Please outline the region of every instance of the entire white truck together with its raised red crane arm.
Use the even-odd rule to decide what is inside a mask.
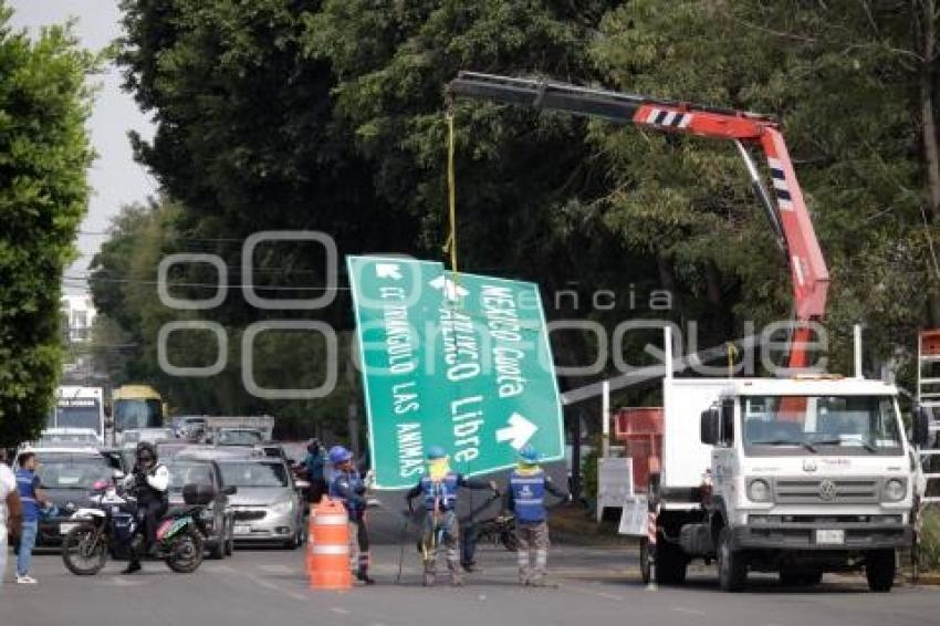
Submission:
[[[460,72],[448,96],[734,144],[793,284],[787,377],[673,378],[667,368],[661,445],[646,459],[652,471],[644,486],[649,520],[640,550],[644,580],[680,584],[689,563],[704,559],[717,562],[719,584],[729,592],[744,588],[750,571],[808,585],[824,572],[858,568],[871,591],[890,591],[897,551],[911,545],[913,449],[926,440],[928,415],[915,411],[909,440],[895,386],[858,374],[794,375],[807,371],[806,346],[825,313],[829,275],[779,123],[760,114],[474,72]],[[769,176],[754,161],[755,149]]]

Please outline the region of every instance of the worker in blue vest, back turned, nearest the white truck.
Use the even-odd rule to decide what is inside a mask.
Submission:
[[[519,584],[544,586],[549,564],[549,515],[545,492],[568,500],[570,495],[552,482],[539,467],[540,455],[532,446],[519,453],[519,465],[509,477],[506,509],[515,513],[515,535],[519,542]],[[535,565],[532,566],[532,556]]]

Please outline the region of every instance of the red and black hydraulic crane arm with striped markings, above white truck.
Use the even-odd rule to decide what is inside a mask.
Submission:
[[[606,90],[593,90],[544,80],[513,79],[460,72],[448,85],[450,97],[503,102],[600,117],[619,124],[734,142],[744,159],[751,185],[766,213],[771,229],[787,258],[796,321],[822,321],[829,274],[803,192],[777,123],[767,116],[685,102],[655,100]],[[763,150],[773,181],[774,200],[746,146]],[[798,326],[793,335],[790,367],[808,365],[805,342],[812,332]]]

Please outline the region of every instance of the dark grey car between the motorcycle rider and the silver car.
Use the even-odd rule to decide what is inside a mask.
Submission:
[[[187,484],[206,484],[215,497],[200,513],[206,528],[206,553],[211,559],[230,556],[234,546],[234,511],[230,497],[238,489],[224,484],[222,472],[215,461],[170,459],[165,461],[169,471],[169,504],[182,507],[182,488]]]

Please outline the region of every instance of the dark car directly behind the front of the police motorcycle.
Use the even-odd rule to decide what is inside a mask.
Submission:
[[[69,518],[79,508],[90,504],[88,494],[95,482],[112,480],[115,470],[124,471],[119,455],[96,448],[23,448],[20,455],[24,451],[35,453],[36,473],[59,510],[58,515],[40,521],[38,546],[60,545],[65,533],[75,525]],[[19,465],[19,457],[14,462]]]

